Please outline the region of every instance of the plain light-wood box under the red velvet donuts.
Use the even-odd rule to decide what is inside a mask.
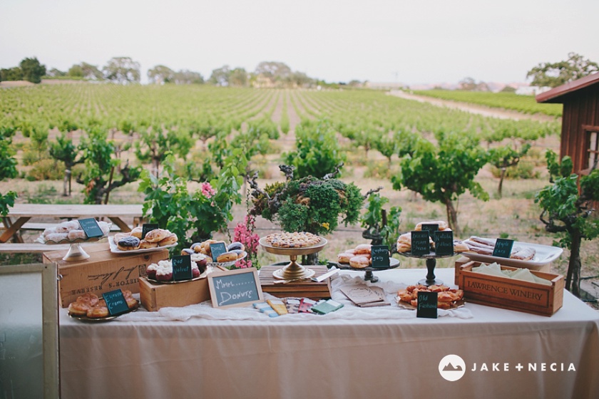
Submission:
[[[169,306],[200,304],[210,299],[208,279],[182,281],[177,284],[158,284],[139,279],[139,298],[148,311],[158,311]]]

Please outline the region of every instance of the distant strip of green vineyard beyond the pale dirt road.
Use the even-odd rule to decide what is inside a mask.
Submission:
[[[516,93],[491,93],[466,90],[414,90],[414,94],[428,97],[441,98],[442,100],[460,101],[485,105],[492,108],[516,110],[528,114],[544,114],[560,117],[562,106],[560,104],[537,103],[532,95],[518,95]]]

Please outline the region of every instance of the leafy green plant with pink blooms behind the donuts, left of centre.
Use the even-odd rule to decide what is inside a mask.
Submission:
[[[179,245],[173,253],[193,241],[211,237],[213,232],[227,232],[232,206],[241,202],[240,171],[245,169],[245,162],[240,150],[235,150],[225,160],[220,175],[195,192],[188,190],[187,180],[175,175],[172,155],[165,159],[163,177],[143,172],[138,189],[145,194],[143,213],[150,222],[178,235]]]

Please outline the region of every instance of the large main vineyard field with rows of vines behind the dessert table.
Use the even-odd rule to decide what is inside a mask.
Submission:
[[[492,106],[558,115],[535,110],[533,98],[526,96],[497,98]],[[502,197],[496,194],[499,169],[488,163],[476,175],[476,184],[490,199],[485,202],[471,193],[452,199],[461,235],[551,244],[554,237],[538,222],[540,210],[533,198],[548,184],[544,153],[558,150],[559,132],[558,120],[487,118],[371,90],[113,84],[11,88],[0,91],[0,133],[10,141],[6,154],[14,156],[18,173],[0,182],[0,193],[14,190],[17,202],[101,203],[109,198],[116,204],[142,203],[152,195],[168,202],[166,182],[163,191],[152,193],[148,188],[158,184],[165,170],[181,179],[168,182],[171,189],[195,190],[223,175],[226,179],[220,183],[235,186],[236,177],[245,175],[243,170],[257,171],[258,182],[265,187],[285,180],[278,168],[281,163],[295,165],[298,173],[306,167],[324,175],[323,168],[344,162],[344,182],[354,182],[363,193],[382,186],[389,207],[403,209],[399,229],[405,232],[423,219],[446,219],[446,205],[399,190],[408,187],[396,182],[399,170],[406,167],[402,159],[413,154],[421,139],[441,146],[455,135],[483,152],[530,147],[520,155],[518,167],[507,173]],[[330,166],[323,166],[325,159]],[[64,196],[66,169],[74,181],[71,195]],[[127,184],[111,192],[108,188],[123,170]],[[121,180],[125,178],[123,174]],[[146,191],[138,191],[140,186]],[[103,187],[108,192],[100,190]],[[230,230],[247,213],[250,188],[244,181],[240,187],[229,193],[236,203]],[[168,214],[163,216],[168,220]],[[258,234],[275,229],[276,224],[257,219]],[[362,242],[362,230],[359,224],[339,224],[327,237],[331,244],[322,253],[324,258],[333,259],[340,250]],[[269,254],[261,256],[262,264],[280,261]],[[583,264],[598,264],[598,257],[596,248],[585,251]],[[402,262],[406,267],[422,266],[412,259]],[[450,261],[439,263],[451,266]],[[563,272],[567,257],[553,266]],[[596,270],[583,268],[583,274],[590,273]]]

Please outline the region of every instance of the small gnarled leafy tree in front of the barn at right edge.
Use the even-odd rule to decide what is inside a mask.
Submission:
[[[595,210],[591,201],[599,201],[599,170],[593,169],[589,175],[580,177],[579,191],[578,175],[571,173],[570,157],[563,157],[559,163],[556,153],[550,150],[546,159],[553,185],[538,192],[535,202],[543,209],[539,218],[546,231],[559,234],[560,241],[556,244],[570,249],[565,289],[580,297],[580,244],[583,239],[599,236],[599,219],[590,218]]]

